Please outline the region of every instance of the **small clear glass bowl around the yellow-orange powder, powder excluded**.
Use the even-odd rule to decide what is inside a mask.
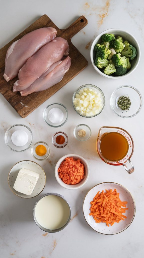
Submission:
[[[43,145],[46,148],[46,154],[43,155],[43,156],[39,156],[35,152],[36,147],[39,146],[39,145]],[[31,148],[31,154],[37,160],[45,160],[45,159],[47,159],[50,156],[50,153],[51,153],[50,147],[49,147],[49,145],[46,142],[36,142],[32,146],[32,148]]]

